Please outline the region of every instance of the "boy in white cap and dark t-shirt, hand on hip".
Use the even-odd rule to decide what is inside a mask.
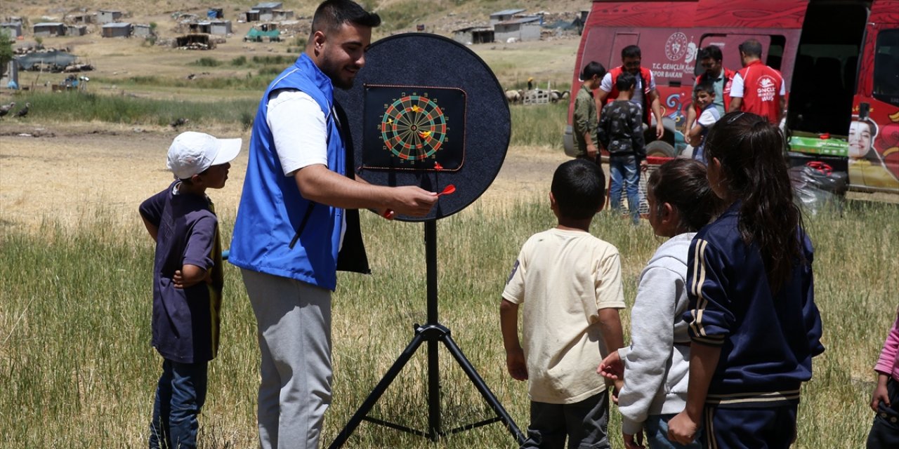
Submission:
[[[174,138],[175,180],[140,205],[156,242],[153,347],[163,357],[149,447],[194,448],[206,400],[207,364],[218,352],[222,258],[218,218],[206,189],[225,187],[241,139],[186,132]]]

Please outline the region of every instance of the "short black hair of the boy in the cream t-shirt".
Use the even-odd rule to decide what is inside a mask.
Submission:
[[[559,216],[573,220],[592,218],[606,199],[606,180],[599,165],[583,159],[559,165],[550,189]]]

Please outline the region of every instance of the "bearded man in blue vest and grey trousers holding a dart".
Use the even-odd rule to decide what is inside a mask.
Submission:
[[[369,272],[356,209],[426,216],[437,195],[354,179],[334,87],[352,87],[377,13],[326,0],[306,51],[256,112],[229,261],[258,324],[263,449],[317,448],[331,402],[331,292],[337,269]],[[345,119],[343,120],[345,125]]]

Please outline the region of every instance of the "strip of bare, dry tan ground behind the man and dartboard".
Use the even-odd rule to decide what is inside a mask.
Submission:
[[[227,129],[204,131],[235,136]],[[0,230],[37,226],[47,218],[76,225],[98,212],[123,224],[139,223],[140,201],[172,179],[165,153],[176,134],[109,124],[0,125]],[[249,134],[242,137],[244,150],[232,164],[225,189],[210,194],[222,216],[233,216],[240,199]],[[511,147],[479,202],[504,207],[518,198],[544,195],[553,170],[565,159],[561,149]]]

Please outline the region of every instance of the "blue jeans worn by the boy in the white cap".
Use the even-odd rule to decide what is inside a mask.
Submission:
[[[163,361],[150,423],[150,449],[197,447],[197,416],[206,401],[207,365]]]

